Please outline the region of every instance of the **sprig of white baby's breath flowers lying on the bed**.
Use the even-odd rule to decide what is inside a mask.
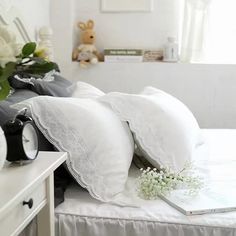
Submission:
[[[187,194],[197,194],[203,187],[202,178],[195,175],[191,163],[174,173],[170,168],[161,167],[141,169],[141,176],[138,178],[137,191],[141,198],[147,200],[157,199],[160,195],[167,195],[177,188],[186,189]]]

